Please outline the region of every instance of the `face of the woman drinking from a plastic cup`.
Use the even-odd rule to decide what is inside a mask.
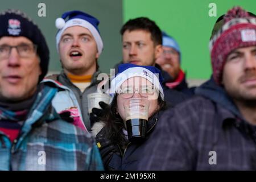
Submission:
[[[152,114],[158,109],[158,97],[147,97],[147,89],[153,88],[153,85],[150,81],[146,80],[146,78],[143,77],[131,77],[125,82],[120,87],[121,92],[118,93],[117,95],[117,111],[123,121],[125,121],[125,102],[127,100],[130,100],[131,98],[141,98],[141,99],[146,99],[149,106],[148,106],[148,118],[151,117]],[[127,93],[122,92],[122,90],[129,90],[130,93],[130,98],[127,98],[124,96],[122,93]],[[151,93],[154,92],[154,96],[158,96],[156,90],[151,90]],[[150,94],[152,96],[152,94]]]

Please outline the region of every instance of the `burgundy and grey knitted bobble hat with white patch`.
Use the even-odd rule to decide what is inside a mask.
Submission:
[[[226,59],[234,49],[256,46],[256,18],[241,7],[234,7],[224,16],[224,25],[209,43],[213,78],[221,84]]]

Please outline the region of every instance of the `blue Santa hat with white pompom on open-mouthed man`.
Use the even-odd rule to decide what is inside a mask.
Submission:
[[[87,28],[92,33],[100,55],[103,49],[103,43],[100,31],[98,30],[99,23],[100,21],[97,18],[82,11],[75,10],[64,13],[61,18],[57,18],[55,22],[55,26],[59,29],[56,35],[57,50],[59,51],[59,43],[63,32],[69,27],[81,26]]]

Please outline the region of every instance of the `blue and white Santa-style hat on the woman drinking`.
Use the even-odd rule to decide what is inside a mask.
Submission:
[[[156,74],[158,74],[158,76],[156,76]],[[118,66],[118,73],[111,81],[111,93],[115,93],[123,82],[135,76],[144,77],[152,84],[154,84],[159,90],[160,97],[162,98],[162,100],[164,100],[164,92],[162,86],[163,76],[161,74],[161,71],[156,67],[141,66],[130,63],[121,64]]]

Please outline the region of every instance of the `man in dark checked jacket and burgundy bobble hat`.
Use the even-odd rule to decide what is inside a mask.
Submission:
[[[163,114],[138,169],[256,169],[256,19],[228,11],[210,52],[213,77]]]

